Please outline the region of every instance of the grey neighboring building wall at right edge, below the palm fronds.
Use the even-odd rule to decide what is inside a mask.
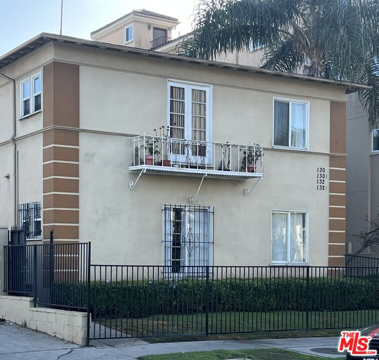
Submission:
[[[366,216],[379,213],[379,129],[369,129],[356,94],[347,96],[346,138],[346,251],[354,253],[360,243],[353,235],[367,229]],[[379,255],[370,248],[362,254]]]

